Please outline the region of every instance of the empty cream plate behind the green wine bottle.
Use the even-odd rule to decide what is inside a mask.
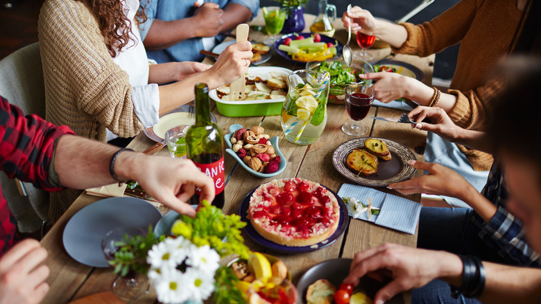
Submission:
[[[212,113],[210,113],[210,118],[212,121],[216,122],[216,117]],[[196,117],[190,117],[189,113],[189,105],[182,105],[179,108],[176,108],[175,110],[172,110],[171,112],[162,115],[160,117],[160,121],[158,123],[151,127],[146,128],[143,130],[146,137],[150,138],[151,140],[155,142],[164,142],[165,139],[165,133],[170,128],[173,128],[174,126],[191,126],[196,122]]]

